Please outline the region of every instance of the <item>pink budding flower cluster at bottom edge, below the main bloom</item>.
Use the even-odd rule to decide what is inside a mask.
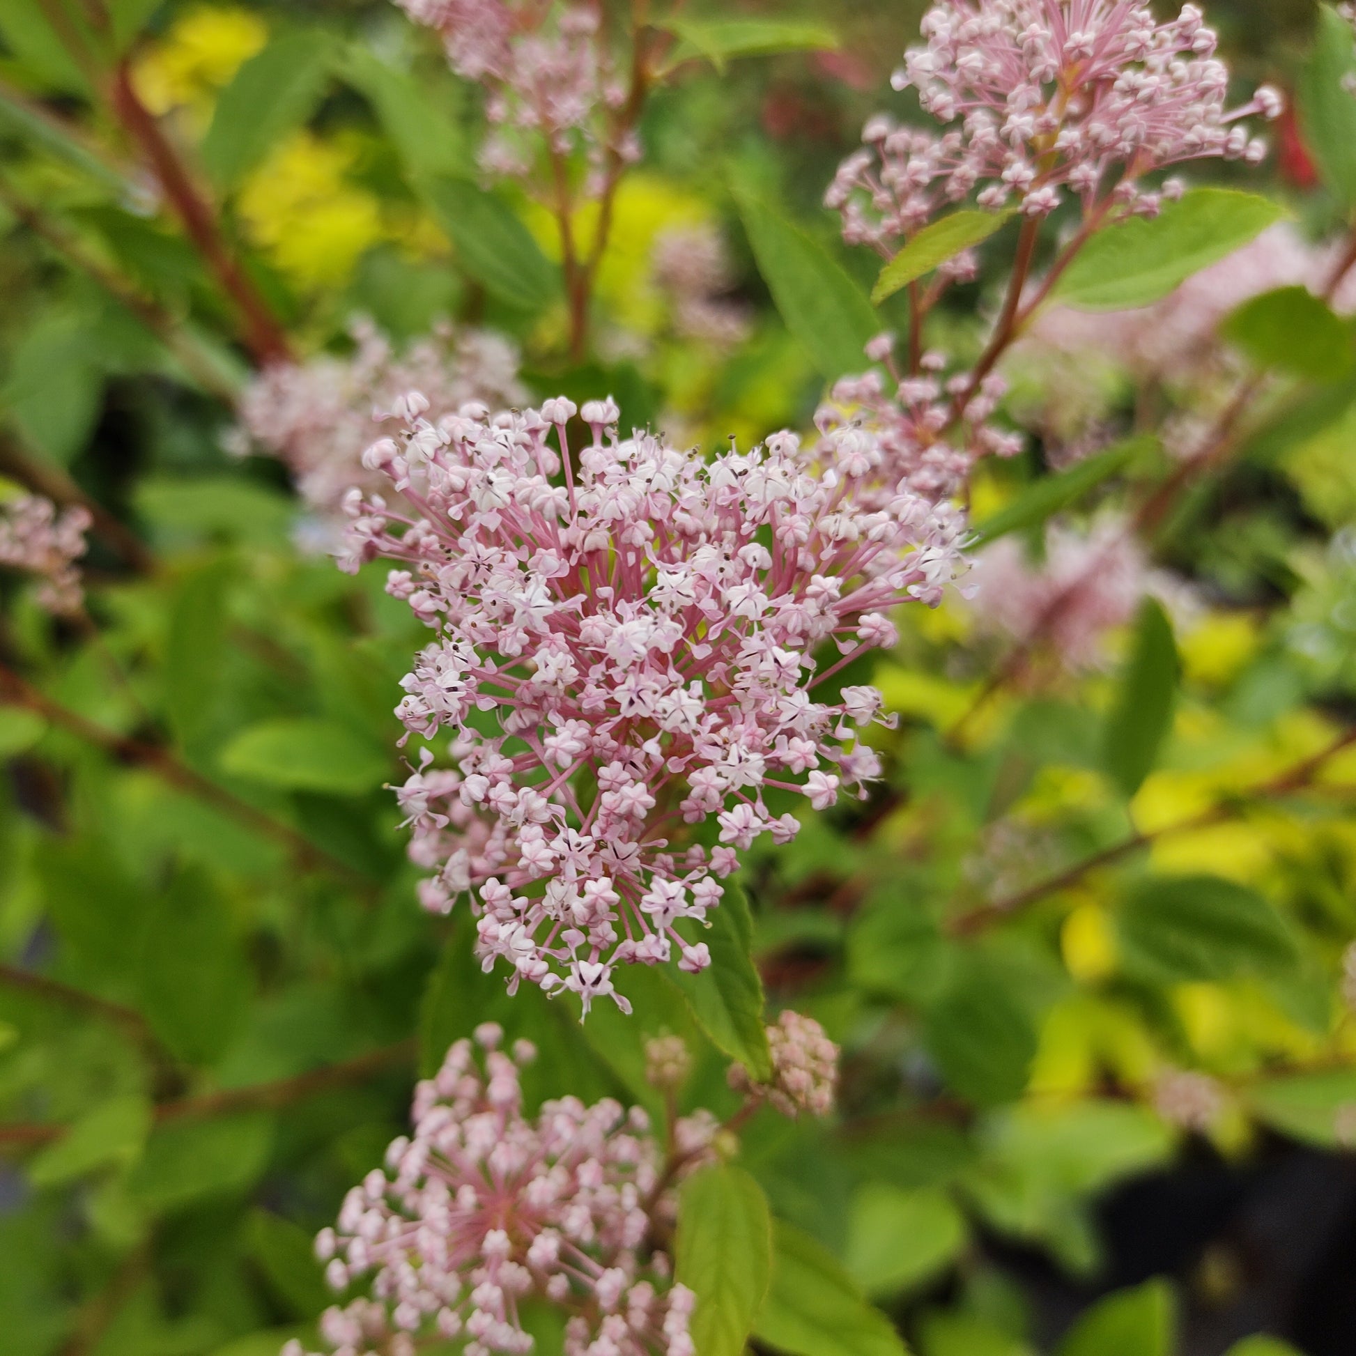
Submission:
[[[525,1353],[518,1306],[537,1298],[572,1315],[565,1356],[694,1356],[694,1296],[650,1252],[674,1201],[645,1113],[563,1097],[529,1120],[518,1064],[536,1051],[518,1041],[510,1058],[502,1039],[487,1022],[483,1056],[469,1040],[447,1051],[415,1089],[414,1136],[391,1144],[389,1172],[369,1173],[317,1237],[330,1284],[370,1276],[373,1296],[327,1310],[321,1336],[336,1356],[414,1356],[438,1338],[465,1356]]]

